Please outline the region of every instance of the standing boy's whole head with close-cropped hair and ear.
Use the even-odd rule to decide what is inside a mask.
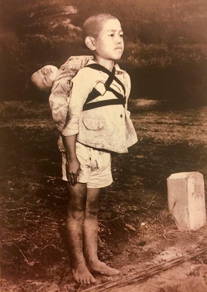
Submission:
[[[92,15],[83,24],[83,37],[95,57],[119,60],[124,51],[123,31],[119,20],[110,14]]]

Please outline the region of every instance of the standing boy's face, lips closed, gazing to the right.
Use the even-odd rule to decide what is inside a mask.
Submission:
[[[102,23],[102,29],[94,39],[95,53],[105,60],[119,60],[124,51],[123,31],[118,19]]]

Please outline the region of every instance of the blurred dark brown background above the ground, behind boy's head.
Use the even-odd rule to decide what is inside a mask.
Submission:
[[[89,54],[80,28],[98,12],[122,23],[132,98],[207,105],[206,0],[1,0],[1,100],[42,100],[32,73]]]

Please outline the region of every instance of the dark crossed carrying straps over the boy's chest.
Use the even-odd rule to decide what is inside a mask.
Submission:
[[[92,69],[103,71],[104,73],[108,74],[108,79],[104,83],[105,90],[112,92],[115,95],[115,97],[117,97],[117,98],[90,102],[90,101],[94,100],[95,98],[102,96],[101,93],[94,87],[93,90],[88,95],[88,97],[83,105],[83,111],[97,108],[97,107],[101,107],[101,106],[112,105],[112,104],[122,104],[123,106],[125,105],[125,103],[126,103],[126,97],[125,97],[126,90],[125,90],[123,83],[115,76],[115,66],[113,67],[112,71],[109,71],[104,66],[99,65],[99,64],[90,64],[90,65],[86,65],[85,67],[90,67]],[[124,96],[110,87],[113,80],[115,80],[122,87],[123,92],[124,92]]]

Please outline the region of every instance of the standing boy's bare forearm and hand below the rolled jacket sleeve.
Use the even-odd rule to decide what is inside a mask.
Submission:
[[[80,163],[75,154],[76,135],[63,136],[63,143],[66,148],[66,173],[69,184],[73,187],[77,184],[78,174],[80,172]]]

